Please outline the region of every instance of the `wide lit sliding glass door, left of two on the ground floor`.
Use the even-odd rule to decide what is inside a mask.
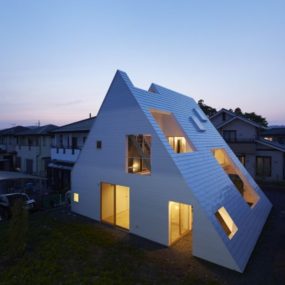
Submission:
[[[101,183],[101,220],[124,229],[130,228],[130,188]]]

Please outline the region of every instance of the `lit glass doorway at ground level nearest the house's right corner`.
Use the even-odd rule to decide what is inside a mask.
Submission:
[[[192,229],[192,206],[170,201],[169,244],[173,244]]]

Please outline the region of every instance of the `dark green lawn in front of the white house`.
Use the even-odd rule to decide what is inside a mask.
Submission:
[[[177,272],[159,251],[153,258],[126,233],[62,209],[30,215],[26,250],[17,258],[9,257],[8,228],[0,224],[0,284],[218,284]]]

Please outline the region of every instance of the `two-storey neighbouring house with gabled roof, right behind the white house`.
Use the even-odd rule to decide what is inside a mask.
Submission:
[[[265,140],[268,129],[226,109],[210,120],[253,177],[285,180],[285,146]]]

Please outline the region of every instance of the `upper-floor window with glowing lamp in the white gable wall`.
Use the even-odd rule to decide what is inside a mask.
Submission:
[[[127,136],[128,173],[150,174],[151,173],[151,136],[129,135]]]

